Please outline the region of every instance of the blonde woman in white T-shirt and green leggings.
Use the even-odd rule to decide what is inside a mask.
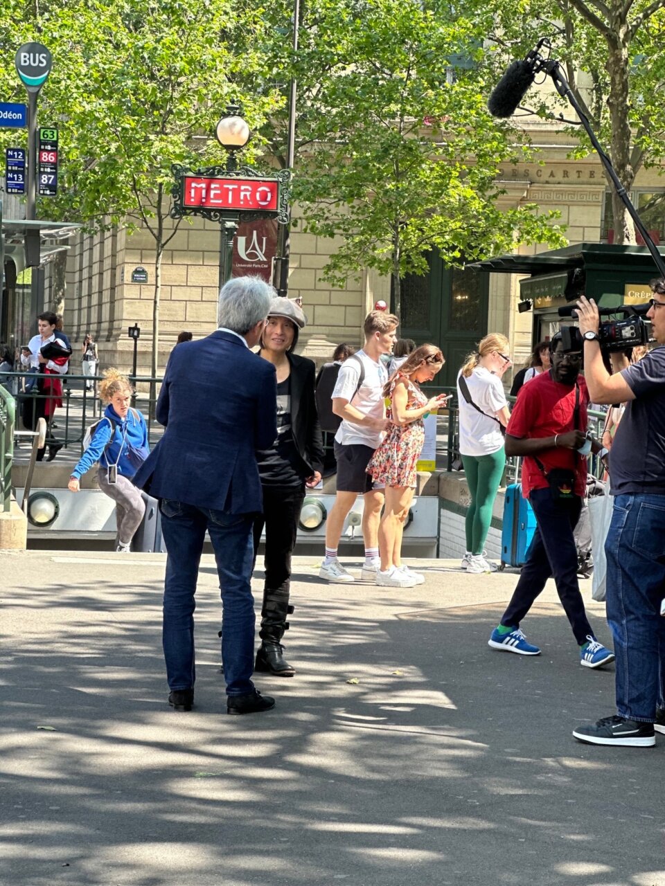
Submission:
[[[487,335],[478,350],[469,354],[458,375],[459,454],[471,496],[462,559],[467,572],[497,569],[485,559],[483,548],[505,467],[502,426],[508,424],[510,412],[501,377],[511,365],[507,351],[505,336]]]

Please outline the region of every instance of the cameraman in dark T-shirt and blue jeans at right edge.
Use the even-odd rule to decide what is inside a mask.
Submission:
[[[665,279],[653,280],[651,288],[646,316],[665,345]],[[665,595],[665,347],[610,376],[600,352],[598,307],[584,297],[577,305],[591,399],[627,405],[609,455],[614,509],[605,546],[618,714],[573,734],[590,744],[651,747],[654,721],[665,732],[665,618],[659,615]]]

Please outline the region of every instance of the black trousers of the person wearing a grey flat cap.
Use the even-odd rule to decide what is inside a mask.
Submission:
[[[259,632],[262,640],[280,640],[286,630],[291,590],[291,555],[295,548],[304,497],[304,484],[297,489],[263,486],[263,513],[254,519],[254,564],[265,525],[265,581]]]

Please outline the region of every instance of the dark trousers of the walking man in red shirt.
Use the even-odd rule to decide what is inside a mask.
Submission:
[[[582,499],[575,495],[571,501],[555,501],[548,488],[534,489],[529,501],[536,514],[536,532],[501,624],[519,627],[520,621],[543,591],[547,579],[554,576],[557,594],[573,628],[575,640],[583,646],[587,636],[594,636],[594,633],[580,594],[577,548],[573,537],[582,510]]]

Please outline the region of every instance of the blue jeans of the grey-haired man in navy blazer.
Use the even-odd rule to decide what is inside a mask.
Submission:
[[[254,599],[252,515],[226,514],[162,499],[161,531],[168,558],[164,581],[162,642],[168,688],[189,689],[194,669],[194,595],[206,530],[215,550],[222,591],[222,664],[226,692],[254,691]]]

